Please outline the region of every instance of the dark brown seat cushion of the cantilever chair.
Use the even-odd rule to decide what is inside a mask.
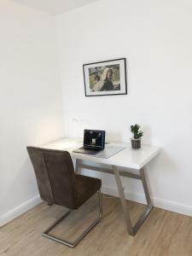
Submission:
[[[77,199],[75,209],[78,209],[92,195],[102,187],[102,181],[96,177],[87,177],[83,175],[75,175],[75,186],[77,191]]]

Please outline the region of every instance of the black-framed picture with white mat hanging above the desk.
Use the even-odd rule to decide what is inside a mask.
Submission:
[[[127,94],[126,59],[84,64],[85,96]]]

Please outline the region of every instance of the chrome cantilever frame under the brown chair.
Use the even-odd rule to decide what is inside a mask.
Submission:
[[[98,196],[98,213],[99,213],[98,218],[96,218],[96,220],[92,224],[90,224],[90,226],[86,230],[84,230],[84,232],[75,241],[69,242],[69,241],[61,240],[58,237],[49,235],[49,231],[53,230],[53,228],[55,228],[55,226],[57,224],[60,224],[61,221],[64,218],[66,218],[70,214],[70,212],[72,212],[72,210],[69,210],[63,216],[61,216],[61,218],[57,219],[54,224],[52,224],[47,230],[44,231],[42,236],[48,237],[49,239],[54,240],[54,241],[58,241],[61,244],[67,245],[68,247],[75,247],[79,243],[79,241],[81,241],[84,238],[84,236],[86,236],[89,233],[89,231],[92,230],[102,218],[102,194],[101,194],[101,190],[97,191],[97,196]]]

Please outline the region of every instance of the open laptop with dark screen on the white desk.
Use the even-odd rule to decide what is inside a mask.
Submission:
[[[105,131],[84,130],[84,146],[74,149],[74,153],[97,154],[105,148]]]

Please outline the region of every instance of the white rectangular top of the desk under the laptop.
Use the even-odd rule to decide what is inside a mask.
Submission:
[[[125,149],[108,159],[102,159],[88,154],[73,153],[73,149],[82,147],[82,145],[83,142],[80,139],[62,138],[58,141],[45,144],[41,146],[41,148],[68,151],[74,159],[89,160],[101,164],[127,167],[137,170],[148,164],[148,162],[160,152],[160,148],[155,146],[143,145],[141,149],[134,150],[129,143],[108,143],[108,146],[123,146]]]

